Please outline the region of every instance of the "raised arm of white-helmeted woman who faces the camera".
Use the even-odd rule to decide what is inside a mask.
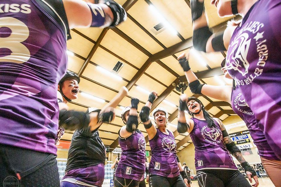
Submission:
[[[148,134],[148,139],[151,140],[157,133],[156,127],[152,124],[149,113],[152,106],[153,101],[157,98],[156,92],[151,92],[148,96],[148,101],[145,106],[140,111],[140,120],[143,122],[144,128]]]

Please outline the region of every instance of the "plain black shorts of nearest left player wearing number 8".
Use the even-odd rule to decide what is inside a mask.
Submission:
[[[0,144],[0,183],[59,187],[56,155]]]

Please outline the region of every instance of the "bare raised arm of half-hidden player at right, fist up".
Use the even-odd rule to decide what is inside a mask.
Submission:
[[[187,81],[189,82],[189,88],[192,93],[203,94],[221,101],[226,101],[230,103],[232,86],[213,86],[208,84],[201,84],[194,74],[194,72],[189,67],[189,53],[183,53],[179,56],[178,60],[181,67],[184,70]]]

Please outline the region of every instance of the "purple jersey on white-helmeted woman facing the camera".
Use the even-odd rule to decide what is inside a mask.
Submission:
[[[157,129],[156,135],[149,140],[151,148],[151,161],[149,163],[149,173],[165,176],[179,176],[179,167],[177,162],[177,143],[172,132],[164,134]]]

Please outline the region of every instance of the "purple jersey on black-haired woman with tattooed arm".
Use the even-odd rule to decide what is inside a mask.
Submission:
[[[222,131],[215,121],[215,127],[208,127],[205,120],[194,121],[190,137],[195,146],[195,168],[200,169],[237,169],[229,151],[223,143]]]

